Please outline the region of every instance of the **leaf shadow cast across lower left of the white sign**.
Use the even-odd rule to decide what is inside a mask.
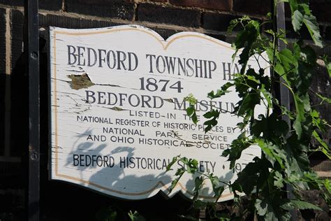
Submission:
[[[68,153],[66,159],[66,168],[73,171],[73,183],[125,199],[152,197],[160,188],[165,189],[165,185],[171,183],[172,177],[165,175],[165,167],[153,174],[149,173],[146,165],[139,165],[137,159],[140,158],[135,157],[135,148],[119,146],[110,149],[107,143],[101,141],[84,141],[89,134],[93,134],[93,129],[76,136],[75,149]],[[67,177],[70,179],[71,176]]]

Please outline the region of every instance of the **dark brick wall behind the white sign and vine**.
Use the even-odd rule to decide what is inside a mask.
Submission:
[[[0,155],[3,155],[6,146],[9,146],[10,155],[13,157],[24,157],[28,134],[27,77],[24,74],[22,59],[23,2],[0,0]],[[46,173],[42,176],[47,180],[47,27],[80,29],[140,24],[154,29],[163,38],[179,31],[198,31],[230,42],[233,36],[226,34],[230,20],[249,15],[263,21],[270,9],[270,3],[266,0],[39,0],[39,8],[43,59],[41,163],[43,172]],[[321,34],[326,40],[325,48],[318,52],[331,55],[331,1],[311,0],[311,8],[318,18]],[[288,8],[286,11],[288,15]],[[286,24],[290,27],[289,20]],[[288,30],[290,31],[290,28]],[[307,33],[302,34],[307,36]],[[316,83],[316,87],[326,87],[328,84],[325,82],[330,78],[324,72],[320,74],[323,75],[321,79],[324,81]],[[327,89],[324,92],[329,96],[331,94]],[[325,116],[330,113],[329,109],[323,110]],[[17,159],[15,158],[14,162],[15,160]],[[0,190],[1,188],[4,187],[0,182]]]

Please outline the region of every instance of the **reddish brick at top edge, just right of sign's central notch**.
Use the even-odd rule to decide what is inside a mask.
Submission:
[[[231,10],[232,0],[169,0],[176,6],[191,6],[215,10]]]

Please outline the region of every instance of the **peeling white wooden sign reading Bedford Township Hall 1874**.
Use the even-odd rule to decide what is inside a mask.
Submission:
[[[245,150],[235,170],[221,152],[239,134],[230,114],[235,92],[210,101],[207,93],[233,79],[240,70],[228,43],[195,32],[164,40],[137,25],[103,29],[50,29],[51,173],[64,180],[124,199],[168,194],[175,170],[165,172],[172,157],[198,159],[199,171],[221,180],[260,155]],[[267,66],[263,59],[260,65]],[[258,63],[251,61],[258,70]],[[183,101],[190,93],[200,101],[195,125]],[[219,124],[204,133],[203,114],[221,108]],[[263,113],[263,108],[256,110]],[[180,166],[180,165],[175,165]],[[180,180],[171,197],[192,197],[193,176]],[[201,194],[214,200],[210,183]],[[226,190],[220,201],[232,199]]]

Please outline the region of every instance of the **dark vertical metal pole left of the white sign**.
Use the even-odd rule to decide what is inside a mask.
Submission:
[[[39,120],[39,30],[38,0],[24,0],[27,75],[29,76],[29,183],[28,219],[39,220],[40,120]]]

